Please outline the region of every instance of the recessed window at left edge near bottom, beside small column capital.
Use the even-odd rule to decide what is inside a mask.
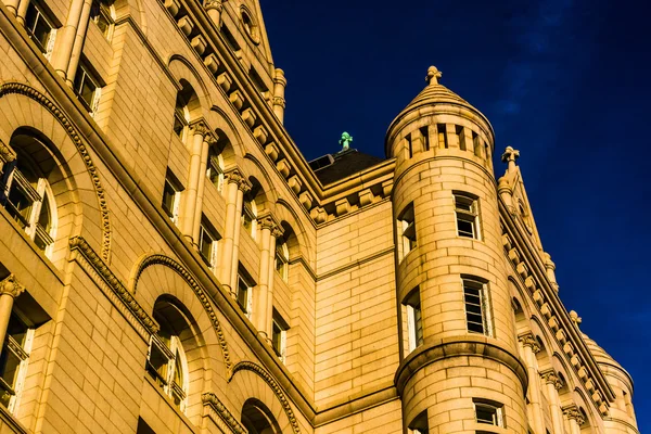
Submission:
[[[18,406],[25,384],[33,340],[34,329],[12,312],[0,356],[0,404],[11,413]]]

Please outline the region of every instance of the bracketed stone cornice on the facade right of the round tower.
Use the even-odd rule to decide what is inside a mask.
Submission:
[[[498,204],[505,230],[505,254],[514,273],[527,289],[551,334],[589,392],[597,410],[601,416],[608,414],[609,400],[613,401],[615,398],[612,388],[549,282],[542,258],[526,242],[501,197],[498,199]]]

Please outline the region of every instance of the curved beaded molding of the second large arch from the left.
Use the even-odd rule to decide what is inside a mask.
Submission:
[[[136,288],[138,286],[140,276],[142,275],[145,268],[151,267],[152,265],[162,265],[167,268],[170,268],[171,270],[176,271],[177,275],[183,278],[183,280],[190,285],[190,288],[201,302],[204,310],[208,315],[208,319],[210,320],[210,323],[213,324],[213,328],[217,333],[217,340],[219,342],[219,346],[221,347],[221,355],[224,356],[224,363],[226,365],[227,369],[230,369],[232,367],[232,362],[230,360],[228,343],[226,342],[226,335],[224,334],[224,330],[221,330],[221,326],[219,324],[217,312],[215,311],[213,305],[208,301],[208,294],[203,290],[203,288],[199,284],[196,279],[194,279],[194,277],[190,273],[190,271],[188,271],[186,267],[177,263],[175,259],[165,255],[154,254],[146,256],[140,261],[140,264],[138,264],[136,268],[136,273],[132,279],[133,283],[131,288],[133,293],[136,293]]]

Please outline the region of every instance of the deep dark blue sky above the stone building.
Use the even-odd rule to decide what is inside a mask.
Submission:
[[[561,297],[635,381],[651,430],[651,35],[641,0],[261,0],[285,125],[306,158],[384,156],[427,66],[480,108],[520,165]],[[498,176],[505,166],[496,162]]]

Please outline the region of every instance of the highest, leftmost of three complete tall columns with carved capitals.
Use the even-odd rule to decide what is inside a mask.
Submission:
[[[183,209],[181,209],[181,219],[179,229],[181,233],[191,244],[196,244],[196,239],[193,238],[194,230],[194,215],[197,213],[196,209],[196,197],[199,194],[199,177],[201,176],[201,155],[203,148],[207,146],[205,143],[205,137],[208,132],[208,128],[203,122],[197,122],[190,126],[190,167],[188,175],[188,188],[186,188],[186,199],[183,201]],[[199,209],[201,213],[201,209]]]

